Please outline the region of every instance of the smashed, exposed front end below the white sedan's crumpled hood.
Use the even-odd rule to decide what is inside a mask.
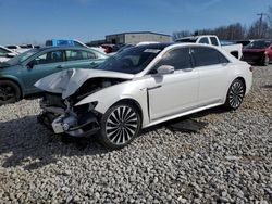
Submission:
[[[101,114],[96,112],[96,102],[73,106],[73,102],[62,100],[59,94],[46,93],[40,101],[42,113],[38,122],[54,133],[67,133],[73,137],[95,135],[99,130]]]

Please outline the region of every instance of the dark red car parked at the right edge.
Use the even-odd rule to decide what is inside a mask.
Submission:
[[[272,40],[255,40],[243,50],[243,60],[251,64],[269,65],[272,61]]]

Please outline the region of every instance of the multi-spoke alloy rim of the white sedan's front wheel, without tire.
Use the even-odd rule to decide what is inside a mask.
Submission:
[[[118,106],[107,118],[106,136],[111,143],[123,145],[134,138],[138,126],[137,113],[131,106]]]

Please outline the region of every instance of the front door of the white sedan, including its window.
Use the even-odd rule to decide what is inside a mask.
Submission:
[[[175,68],[173,74],[152,74],[161,65]],[[147,79],[151,120],[191,110],[198,100],[198,71],[193,68],[189,48],[175,48],[165,53]]]

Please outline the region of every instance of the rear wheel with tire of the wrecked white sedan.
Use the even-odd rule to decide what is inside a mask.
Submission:
[[[227,110],[237,110],[244,101],[246,86],[243,80],[235,79],[226,94],[225,107]]]

